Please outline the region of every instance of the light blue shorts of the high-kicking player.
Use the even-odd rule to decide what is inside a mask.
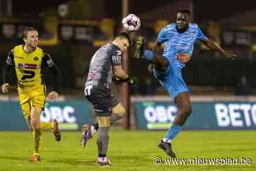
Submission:
[[[188,92],[189,89],[181,75],[181,68],[169,61],[165,72],[153,69],[153,75],[159,83],[170,94],[170,98],[175,100],[176,96],[182,92]]]

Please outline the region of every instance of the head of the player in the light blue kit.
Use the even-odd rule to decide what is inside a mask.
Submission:
[[[189,26],[190,12],[188,9],[181,9],[177,12],[176,24],[178,31],[184,31]]]

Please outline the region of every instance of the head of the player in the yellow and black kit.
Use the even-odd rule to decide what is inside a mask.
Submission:
[[[34,27],[25,27],[23,30],[23,41],[25,45],[30,47],[37,47],[38,44],[38,31]]]

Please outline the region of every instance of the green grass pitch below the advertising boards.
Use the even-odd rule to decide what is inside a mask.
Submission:
[[[96,164],[96,136],[86,149],[80,148],[80,132],[62,132],[61,142],[43,132],[39,163],[29,162],[33,152],[30,132],[0,132],[0,170],[256,170],[255,131],[183,131],[173,141],[178,158],[252,159],[252,164],[159,164],[156,156],[167,159],[157,145],[165,132],[121,131],[112,129],[108,156],[113,167]]]

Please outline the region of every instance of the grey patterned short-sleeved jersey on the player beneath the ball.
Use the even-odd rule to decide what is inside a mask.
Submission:
[[[110,88],[113,66],[121,65],[122,52],[119,47],[108,43],[94,53],[91,58],[89,73],[85,86],[106,86]]]

